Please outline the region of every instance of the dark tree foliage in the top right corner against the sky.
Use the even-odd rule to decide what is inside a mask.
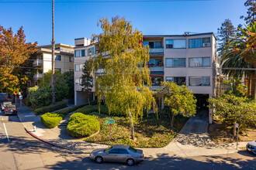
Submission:
[[[240,16],[240,19],[244,19],[246,23],[256,22],[256,0],[247,0],[244,2],[244,6],[247,8],[247,16]]]

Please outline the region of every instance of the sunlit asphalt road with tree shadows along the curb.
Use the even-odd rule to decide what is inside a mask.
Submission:
[[[242,151],[230,155],[146,159],[129,167],[96,164],[88,155],[75,155],[37,141],[26,133],[17,116],[0,116],[0,169],[256,169],[256,157]]]

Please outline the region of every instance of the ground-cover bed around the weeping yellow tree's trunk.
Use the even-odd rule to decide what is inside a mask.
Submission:
[[[92,115],[98,118],[101,124],[101,130],[99,134],[85,138],[85,141],[109,144],[109,124],[106,124],[106,121],[108,121],[108,117],[111,117],[116,123],[112,124],[110,145],[122,144],[137,148],[161,148],[168,145],[188,120],[187,117],[177,115],[175,117],[175,127],[170,130],[170,120],[156,120],[155,116],[145,117],[142,121],[134,124],[136,140],[133,141],[130,139],[130,123],[126,117],[112,117],[97,113],[92,113]]]

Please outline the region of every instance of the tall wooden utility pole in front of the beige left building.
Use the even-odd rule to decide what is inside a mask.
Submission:
[[[52,104],[55,104],[55,75],[54,75],[54,72],[55,72],[55,66],[54,66],[54,61],[55,61],[55,57],[54,57],[54,50],[55,50],[55,41],[54,41],[54,0],[53,0],[53,5],[52,5],[52,20],[53,20],[53,39],[52,39],[52,49],[51,49],[51,66],[52,66],[52,69],[51,69],[51,89],[52,89],[52,96],[53,96],[53,99],[52,99]]]

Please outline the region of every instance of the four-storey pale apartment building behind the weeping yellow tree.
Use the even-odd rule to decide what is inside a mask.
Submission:
[[[86,102],[81,92],[82,64],[89,57],[89,49],[99,49],[89,39],[75,39],[74,79],[75,104]],[[216,76],[220,75],[220,59],[216,55],[216,37],[213,32],[183,35],[144,36],[144,46],[150,47],[148,63],[152,90],[160,88],[161,81],[174,81],[189,87],[198,100],[198,107],[206,107],[207,99],[216,95]],[[92,99],[95,98],[92,89]],[[213,110],[209,110],[209,123]]]

